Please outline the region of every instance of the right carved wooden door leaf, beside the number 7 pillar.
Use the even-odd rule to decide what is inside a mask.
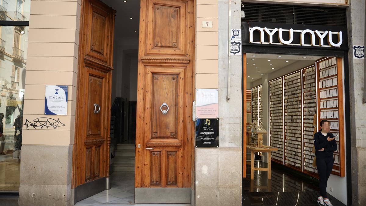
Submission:
[[[141,0],[135,203],[190,196],[194,31],[194,0]]]

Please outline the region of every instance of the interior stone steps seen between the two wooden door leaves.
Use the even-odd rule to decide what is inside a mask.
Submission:
[[[115,172],[135,171],[135,145],[117,144],[115,157],[113,158]]]

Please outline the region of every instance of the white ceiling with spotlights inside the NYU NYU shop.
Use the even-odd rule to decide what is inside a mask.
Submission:
[[[281,57],[279,57],[281,56]],[[306,57],[306,59],[305,59]],[[297,61],[309,62],[309,65],[320,56],[278,55],[278,54],[250,54],[247,53],[247,82],[262,78],[262,74],[269,74]],[[252,60],[254,59],[254,60]],[[270,60],[270,61],[269,61]],[[286,62],[288,61],[288,62]],[[255,65],[253,65],[255,64]],[[258,67],[258,68],[256,68]],[[274,68],[274,69],[272,69]],[[301,68],[295,68],[301,69]],[[248,77],[249,76],[249,77]]]

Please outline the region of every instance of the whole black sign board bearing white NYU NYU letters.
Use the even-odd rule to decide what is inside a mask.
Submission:
[[[348,50],[347,27],[242,22],[242,45]]]

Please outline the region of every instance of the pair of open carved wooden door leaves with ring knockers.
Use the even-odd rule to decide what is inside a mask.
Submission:
[[[194,0],[141,0],[140,8],[135,202],[173,203],[191,188]],[[114,19],[101,1],[82,0],[75,202],[108,189]]]

